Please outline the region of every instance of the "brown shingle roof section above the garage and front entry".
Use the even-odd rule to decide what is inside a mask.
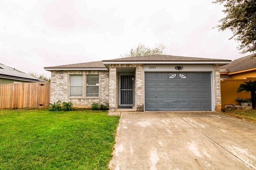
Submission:
[[[156,54],[156,55],[145,55],[145,56],[137,56],[137,57],[126,57],[126,58],[116,58],[111,60],[103,60],[103,62],[104,61],[230,61],[230,60]]]

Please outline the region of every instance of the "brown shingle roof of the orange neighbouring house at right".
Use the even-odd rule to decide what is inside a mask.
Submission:
[[[230,73],[250,68],[256,68],[256,58],[250,59],[252,55],[233,60],[230,64],[221,66],[220,69],[227,69]],[[221,71],[222,72],[222,71]]]

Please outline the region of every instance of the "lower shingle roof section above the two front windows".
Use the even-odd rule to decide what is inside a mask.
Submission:
[[[52,66],[52,67],[45,67],[45,69],[49,68],[106,68],[102,61],[94,61],[94,62],[84,62],[78,64],[68,64],[62,66]]]

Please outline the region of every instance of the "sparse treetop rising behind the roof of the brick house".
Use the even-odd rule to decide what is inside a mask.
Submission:
[[[139,44],[134,48],[130,49],[130,52],[121,55],[121,57],[135,57],[143,55],[154,55],[154,54],[166,54],[166,46],[163,44],[156,44],[154,48],[145,46],[144,44]]]

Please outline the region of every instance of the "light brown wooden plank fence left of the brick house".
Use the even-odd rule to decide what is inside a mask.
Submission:
[[[47,108],[50,82],[0,84],[0,109]]]

